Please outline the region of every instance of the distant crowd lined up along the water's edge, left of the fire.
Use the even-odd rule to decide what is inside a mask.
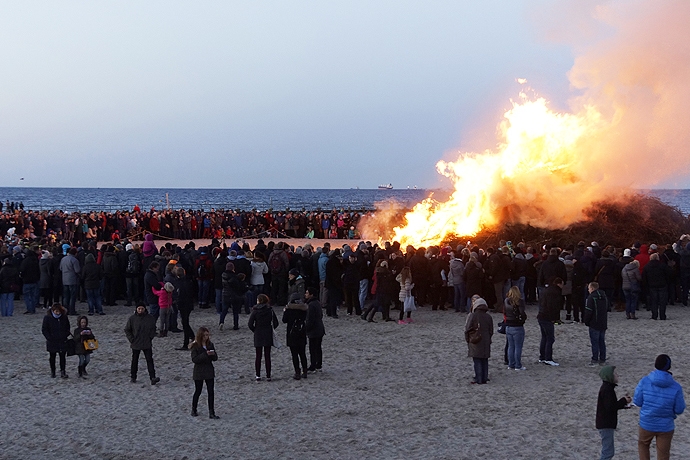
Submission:
[[[359,238],[358,224],[372,211],[156,210],[138,205],[114,212],[25,210],[0,202],[0,237],[48,238],[80,245],[84,241],[141,240],[145,233],[168,239]]]

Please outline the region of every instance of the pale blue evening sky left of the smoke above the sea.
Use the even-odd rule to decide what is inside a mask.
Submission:
[[[552,3],[3,2],[0,186],[444,187],[580,90]]]

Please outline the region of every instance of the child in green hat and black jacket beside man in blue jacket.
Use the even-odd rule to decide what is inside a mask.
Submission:
[[[601,436],[601,457],[600,460],[613,458],[615,452],[613,446],[613,433],[618,426],[618,411],[625,409],[632,399],[625,395],[621,399],[616,399],[616,385],[618,375],[615,372],[616,366],[604,366],[599,371],[602,384],[599,388],[597,399],[596,426]]]

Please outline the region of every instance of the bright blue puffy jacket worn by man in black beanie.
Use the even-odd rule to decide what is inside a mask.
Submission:
[[[640,427],[666,433],[675,429],[675,418],[685,410],[683,388],[666,371],[653,370],[635,388],[633,403],[640,407]]]

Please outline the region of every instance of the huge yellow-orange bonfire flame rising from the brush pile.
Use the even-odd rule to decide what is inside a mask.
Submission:
[[[393,230],[393,238],[419,247],[450,236],[474,236],[499,221],[574,222],[593,192],[588,187],[581,193],[586,165],[580,153],[603,125],[594,107],[577,115],[557,113],[543,98],[530,101],[521,94],[499,127],[502,142],[496,151],[439,161],[436,168],[453,182],[453,194],[442,203],[430,197],[417,204],[405,215],[405,224]]]

